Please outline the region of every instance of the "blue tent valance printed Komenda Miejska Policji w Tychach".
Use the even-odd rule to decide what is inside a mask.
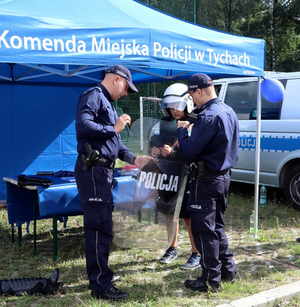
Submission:
[[[0,62],[132,66],[255,76],[263,70],[264,42],[216,32],[187,37],[145,28],[56,29],[28,17],[0,15]],[[27,24],[24,27],[24,24]],[[225,37],[224,37],[225,36]],[[234,39],[233,39],[234,38]]]

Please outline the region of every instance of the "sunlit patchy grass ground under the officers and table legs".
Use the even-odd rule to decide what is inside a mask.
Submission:
[[[244,189],[244,191],[242,191]],[[250,189],[250,190],[249,190]],[[22,246],[10,241],[10,225],[5,209],[0,210],[0,279],[47,277],[59,268],[63,291],[52,296],[1,297],[0,306],[216,306],[234,299],[300,279],[300,212],[283,202],[269,201],[259,212],[259,239],[249,233],[253,208],[251,186],[233,188],[226,211],[226,229],[238,264],[235,283],[223,283],[219,293],[195,293],[183,287],[185,279],[199,271],[183,271],[190,253],[187,233],[181,227],[180,256],[169,265],[157,259],[166,248],[162,225],[136,217],[115,214],[115,239],[110,256],[114,272],[121,275],[118,287],[129,299],[112,304],[92,299],[85,273],[82,216],[69,218],[59,234],[59,259],[52,260],[51,220],[38,221],[38,254],[33,256],[32,234],[25,234]],[[279,306],[279,305],[278,305]],[[300,299],[283,301],[280,306],[300,306]]]

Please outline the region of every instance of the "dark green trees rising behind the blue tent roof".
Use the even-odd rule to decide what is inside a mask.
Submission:
[[[266,40],[266,70],[300,70],[299,0],[143,0],[177,18]]]

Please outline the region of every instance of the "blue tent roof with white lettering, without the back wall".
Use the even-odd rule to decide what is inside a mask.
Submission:
[[[93,82],[116,63],[131,68],[135,81],[194,72],[263,75],[263,40],[190,24],[133,0],[2,0],[0,20],[2,80]]]

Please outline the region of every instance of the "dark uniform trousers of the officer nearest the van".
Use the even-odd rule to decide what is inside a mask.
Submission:
[[[195,244],[201,253],[203,281],[215,286],[222,274],[233,273],[236,265],[228,249],[224,212],[230,185],[229,174],[198,178],[191,187],[189,210]]]

